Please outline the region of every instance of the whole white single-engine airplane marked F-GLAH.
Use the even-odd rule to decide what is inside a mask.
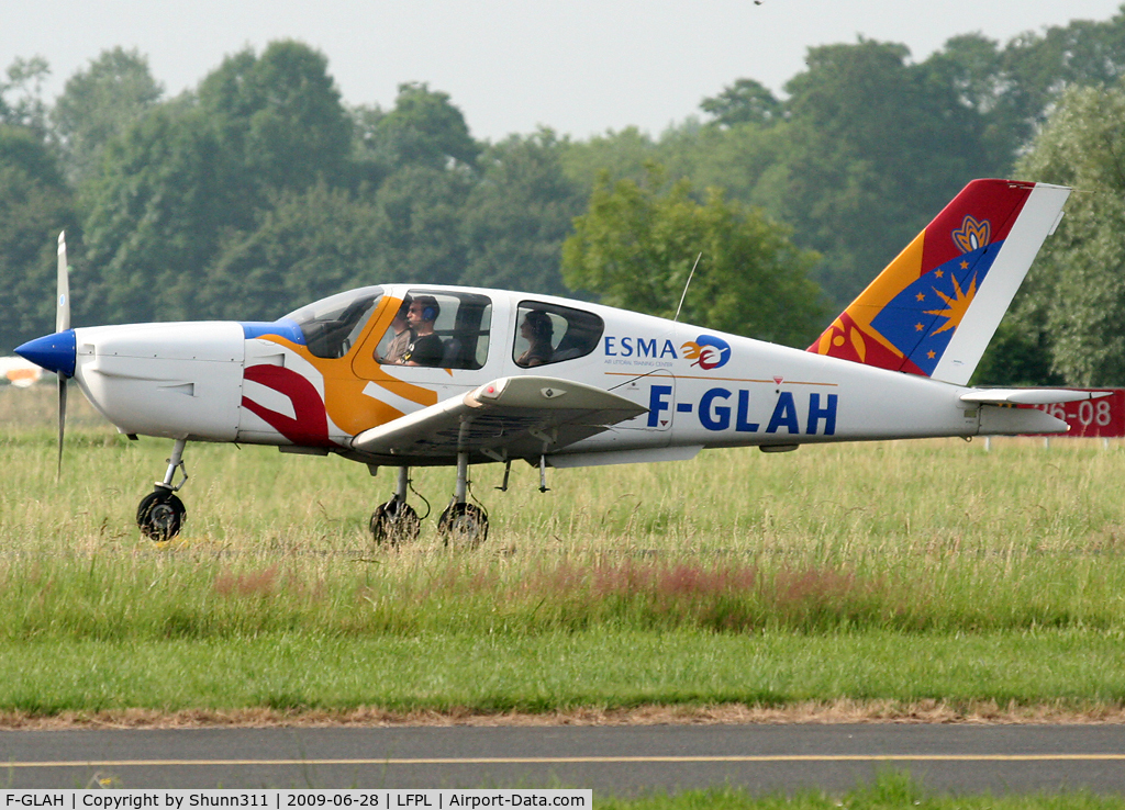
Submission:
[[[273,322],[72,329],[62,235],[56,331],[17,352],[58,375],[60,457],[69,379],[130,438],[174,440],[137,509],[155,540],[184,517],[184,445],[238,442],[397,467],[371,516],[380,541],[418,533],[410,467],[456,464],[439,529],[474,545],[487,516],[467,502],[469,464],[508,465],[506,489],[525,459],[546,490],[548,466],[706,447],[1065,431],[1017,406],[1098,394],[965,385],[1069,193],[971,182],[806,352],[583,301],[423,284],[341,292]]]

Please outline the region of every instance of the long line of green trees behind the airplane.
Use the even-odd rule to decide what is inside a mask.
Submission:
[[[810,48],[783,95],[738,79],[656,136],[488,143],[425,83],[344,104],[299,42],[173,98],[135,51],[53,101],[50,66],[19,58],[0,81],[0,346],[53,322],[64,228],[75,324],[273,319],[389,281],[670,316],[695,266],[684,320],[806,346],[965,182],[1016,175],[1098,193],[1071,202],[981,375],[1123,382],[1123,71],[1125,7],[921,62]]]

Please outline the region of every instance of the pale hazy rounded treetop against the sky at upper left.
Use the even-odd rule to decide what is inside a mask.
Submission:
[[[68,79],[50,118],[71,182],[88,178],[106,142],[152,109],[162,94],[148,58],[135,49],[104,51]]]

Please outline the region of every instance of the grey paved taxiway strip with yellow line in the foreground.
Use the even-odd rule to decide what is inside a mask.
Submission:
[[[574,786],[1125,793],[1125,726],[616,726],[0,731],[8,788]],[[0,765],[0,767],[3,767]]]

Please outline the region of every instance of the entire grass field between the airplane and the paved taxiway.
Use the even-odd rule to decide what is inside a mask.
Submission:
[[[75,392],[76,393],[76,392]],[[170,443],[0,390],[0,711],[1125,707],[1125,452],[1004,439],[474,467],[477,550],[376,547],[394,472],[188,446],[188,521],[133,516]],[[440,511],[450,470],[414,486]],[[420,499],[413,502],[424,512]],[[888,708],[890,707],[890,708]]]

